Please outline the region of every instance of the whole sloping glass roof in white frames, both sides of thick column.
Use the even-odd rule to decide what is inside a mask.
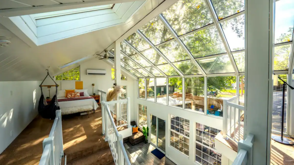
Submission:
[[[122,66],[136,77],[244,74],[244,0],[211,1],[180,0],[153,18],[121,43],[129,56],[121,56]],[[292,0],[276,2],[276,71],[289,67],[293,10]]]

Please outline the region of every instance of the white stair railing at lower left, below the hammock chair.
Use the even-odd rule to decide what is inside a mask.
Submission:
[[[49,137],[43,141],[43,154],[39,165],[60,165],[63,157],[61,110],[56,111]],[[66,158],[65,158],[66,163]]]

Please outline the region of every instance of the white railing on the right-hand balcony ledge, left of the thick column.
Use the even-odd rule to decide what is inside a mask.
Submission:
[[[239,97],[234,96],[229,100],[223,100],[223,136],[229,136],[235,141],[243,139],[241,116],[244,106],[239,105]],[[237,136],[236,136],[237,134]]]

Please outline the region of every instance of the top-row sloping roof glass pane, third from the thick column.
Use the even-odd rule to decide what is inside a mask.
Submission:
[[[139,29],[154,45],[161,44],[173,38],[163,23],[155,17]]]

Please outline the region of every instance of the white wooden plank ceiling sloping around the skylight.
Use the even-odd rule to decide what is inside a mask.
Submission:
[[[56,2],[64,1],[78,2],[77,0],[58,0]],[[42,80],[46,75],[45,70],[48,66],[50,66],[51,75],[62,73],[70,69],[70,67],[60,70],[58,66],[94,54],[95,52],[102,52],[163,1],[164,0],[148,0],[144,6],[136,11],[124,24],[35,47],[28,46],[9,29],[0,24],[0,37],[11,37],[10,40],[12,42],[9,47],[0,47],[0,81]],[[5,8],[24,7],[14,2],[15,1],[3,0],[0,2],[0,6],[4,8],[2,6],[6,4]],[[22,2],[29,3],[35,1],[23,0]],[[44,0],[44,2],[49,4],[50,0]],[[166,6],[164,9],[168,7],[169,6]],[[5,18],[2,17],[1,19]],[[95,57],[96,56],[93,56],[93,58]]]

